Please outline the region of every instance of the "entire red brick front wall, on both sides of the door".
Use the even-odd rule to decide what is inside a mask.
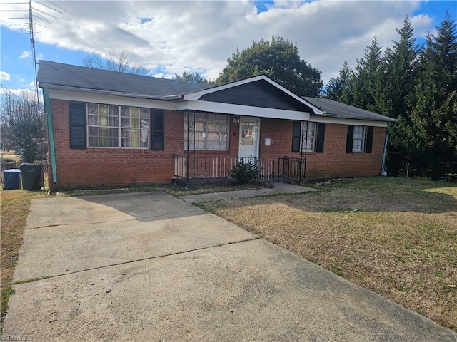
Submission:
[[[57,183],[50,172],[51,190],[66,187],[100,187],[109,185],[169,183],[174,176],[173,155],[186,155],[184,150],[184,113],[165,111],[164,150],[119,148],[69,148],[69,102],[51,100],[56,151]],[[197,151],[199,157],[237,157],[239,126],[230,117],[229,151]],[[260,157],[300,157],[291,152],[291,120],[261,120]],[[346,125],[326,124],[323,153],[308,153],[306,178],[378,175],[381,170],[386,128],[375,128],[373,153],[346,154]],[[271,138],[271,145],[263,145]],[[49,165],[51,170],[51,165]]]

